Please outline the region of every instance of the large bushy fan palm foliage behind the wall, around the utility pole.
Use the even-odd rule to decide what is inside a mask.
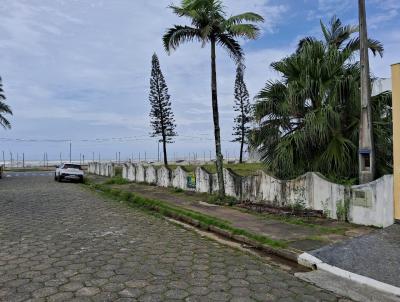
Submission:
[[[256,97],[258,127],[251,144],[279,177],[307,171],[336,179],[358,175],[360,66],[353,58],[357,49],[341,47],[343,36],[349,37],[338,32],[351,27],[338,30],[338,24],[324,30],[325,41],[302,40],[296,53],[272,63],[283,78],[267,82]],[[392,169],[391,94],[373,97],[372,107],[377,173],[382,175]]]

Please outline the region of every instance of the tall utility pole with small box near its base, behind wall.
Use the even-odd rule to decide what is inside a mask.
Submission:
[[[375,152],[371,115],[371,79],[369,74],[368,33],[365,0],[358,0],[360,22],[361,116],[359,133],[359,182],[375,178]]]

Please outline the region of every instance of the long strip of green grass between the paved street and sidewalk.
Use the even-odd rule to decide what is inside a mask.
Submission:
[[[261,244],[265,244],[273,248],[287,247],[287,243],[285,241],[274,240],[263,235],[257,235],[243,229],[238,229],[233,227],[228,221],[201,214],[195,211],[172,206],[167,202],[145,198],[143,196],[140,196],[139,194],[120,189],[112,189],[106,184],[87,183],[86,185],[88,185],[91,189],[95,191],[100,191],[106,197],[112,198],[116,201],[123,201],[130,207],[144,209],[147,212],[156,212],[161,214],[162,216],[172,217],[175,219],[189,218],[197,222],[202,228],[208,229],[210,226],[218,227],[222,230],[228,231],[232,235],[245,236],[249,239],[255,240]]]

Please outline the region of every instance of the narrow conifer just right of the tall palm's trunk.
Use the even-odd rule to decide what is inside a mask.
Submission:
[[[233,106],[234,110],[238,112],[238,115],[234,119],[233,136],[235,139],[233,142],[240,143],[240,163],[243,162],[243,146],[247,143],[247,135],[250,131],[248,124],[251,121],[250,98],[246,83],[244,82],[244,68],[243,65],[239,65],[236,69],[235,105]]]

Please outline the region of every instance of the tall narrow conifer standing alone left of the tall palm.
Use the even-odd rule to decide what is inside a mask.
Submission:
[[[167,83],[161,72],[160,62],[154,53],[152,57],[152,69],[150,79],[151,104],[150,124],[153,128],[152,137],[160,137],[163,143],[164,164],[168,165],[167,143],[172,143],[172,138],[177,136],[175,132],[176,124],[171,108],[170,95],[168,94]]]

